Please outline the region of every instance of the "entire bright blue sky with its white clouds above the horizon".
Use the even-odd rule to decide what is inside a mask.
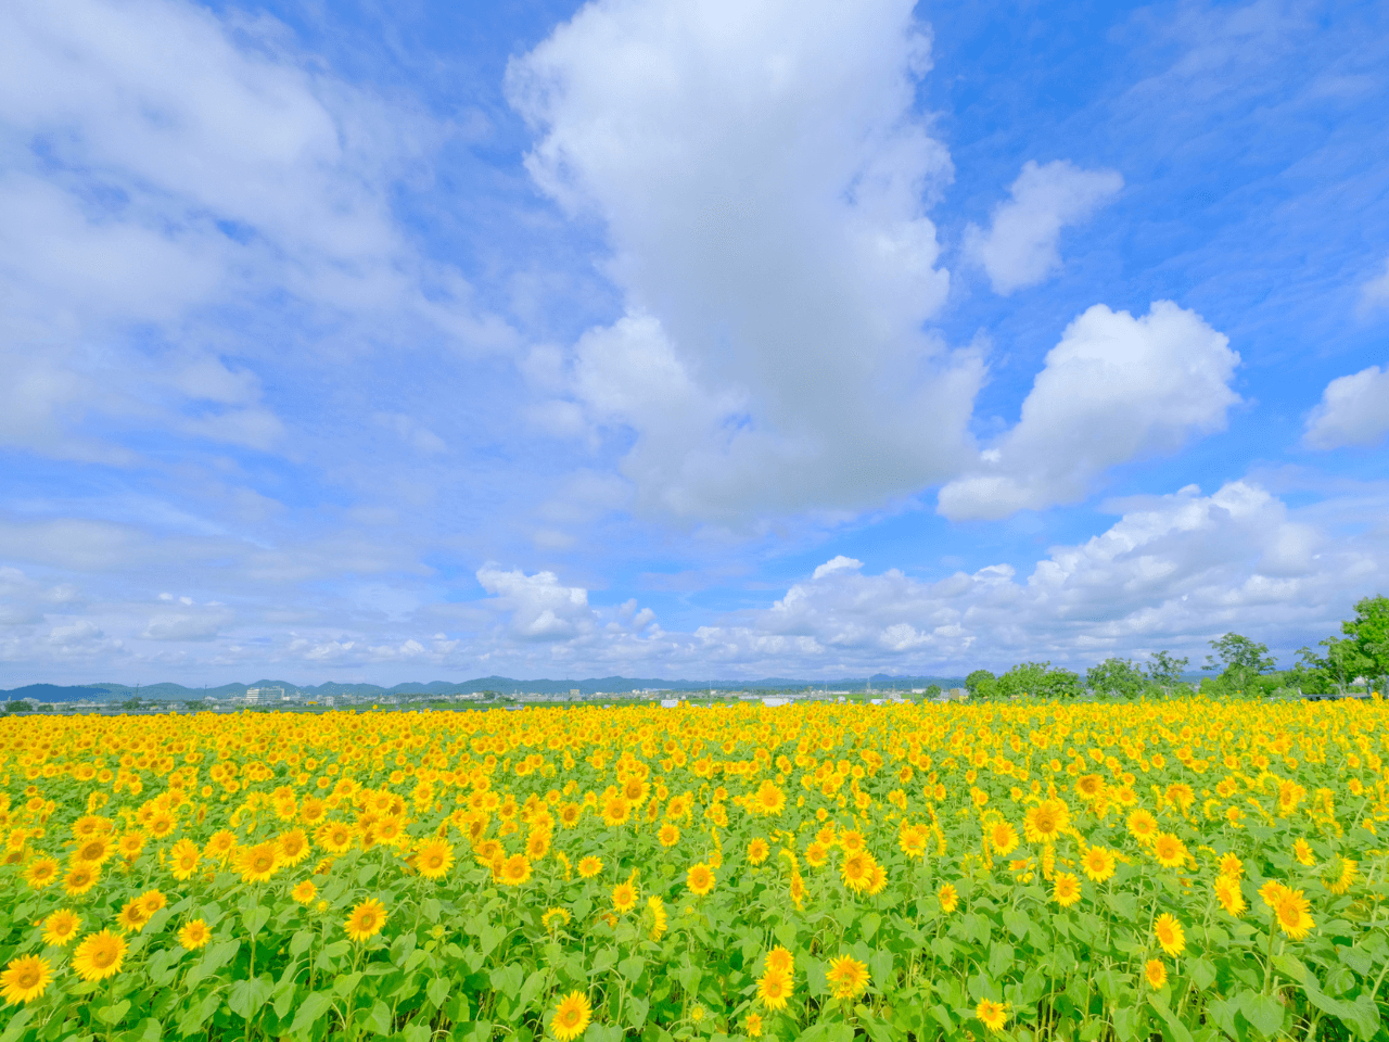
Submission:
[[[19,0],[0,682],[953,675],[1389,592],[1382,4]]]

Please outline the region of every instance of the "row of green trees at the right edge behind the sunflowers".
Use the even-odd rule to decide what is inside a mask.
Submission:
[[[1389,686],[1389,597],[1364,597],[1356,603],[1356,617],[1340,624],[1340,636],[1317,643],[1325,649],[1301,647],[1297,664],[1279,671],[1268,646],[1239,634],[1211,640],[1200,689],[1213,695],[1346,695],[1357,682],[1386,693]],[[1046,699],[1076,697],[1086,692],[1110,697],[1190,693],[1196,688],[1182,679],[1190,663],[1170,652],[1158,652],[1139,665],[1131,659],[1106,659],[1082,677],[1051,663],[1021,663],[1001,675],[975,670],[965,688],[975,697],[1035,695]]]

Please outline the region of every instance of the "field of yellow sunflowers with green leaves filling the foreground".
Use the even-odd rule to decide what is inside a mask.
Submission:
[[[0,720],[0,1042],[1389,1038],[1389,711]]]

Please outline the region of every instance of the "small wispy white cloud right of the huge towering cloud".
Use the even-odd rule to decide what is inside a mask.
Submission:
[[[1118,171],[1028,160],[1008,189],[1013,197],[993,207],[989,231],[965,228],[965,254],[988,272],[995,293],[1035,286],[1061,270],[1061,229],[1088,221],[1122,188]]]

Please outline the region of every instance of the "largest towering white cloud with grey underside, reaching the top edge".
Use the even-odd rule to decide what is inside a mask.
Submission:
[[[914,115],[908,0],[590,3],[507,72],[535,183],[601,218],[625,314],[536,422],[613,431],[649,514],[858,508],[951,474],[982,365],[943,303],[928,206],[949,156]]]

